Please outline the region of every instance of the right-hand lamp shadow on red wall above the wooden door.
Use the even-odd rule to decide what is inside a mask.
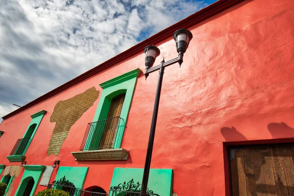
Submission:
[[[293,138],[294,128],[291,128],[286,123],[270,123],[268,125],[272,138]]]

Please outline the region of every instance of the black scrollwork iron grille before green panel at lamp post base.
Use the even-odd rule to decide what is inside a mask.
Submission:
[[[140,196],[141,184],[137,182],[134,183],[134,179],[129,182],[120,183],[117,186],[110,187],[109,196]],[[155,194],[152,190],[147,189],[146,196],[159,196]]]

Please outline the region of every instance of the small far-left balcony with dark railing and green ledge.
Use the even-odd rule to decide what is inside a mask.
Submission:
[[[12,148],[10,155],[7,156],[7,159],[10,162],[24,161],[25,160],[24,151],[29,141],[30,141],[30,138],[18,139],[14,147]]]

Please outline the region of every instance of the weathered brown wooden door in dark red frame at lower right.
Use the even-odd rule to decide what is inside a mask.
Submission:
[[[294,196],[294,144],[230,149],[232,196]]]

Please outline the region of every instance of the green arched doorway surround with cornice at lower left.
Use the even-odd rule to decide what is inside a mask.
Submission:
[[[43,171],[40,168],[45,167],[45,166],[42,166],[42,167],[40,165],[35,165],[34,167],[32,167],[31,165],[28,165],[28,166],[29,166],[29,168],[34,168],[34,169],[33,170],[25,170],[23,177],[21,179],[21,182],[16,190],[15,196],[23,196],[27,182],[31,178],[34,179],[35,183],[34,183],[32,192],[30,193],[29,196],[35,195],[35,191],[39,185],[39,181],[40,181],[42,173],[43,173]],[[37,168],[39,168],[39,169],[36,170]]]

